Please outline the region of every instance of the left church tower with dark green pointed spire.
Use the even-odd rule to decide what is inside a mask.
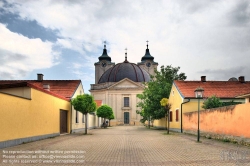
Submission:
[[[99,62],[95,63],[95,84],[98,84],[99,79],[105,71],[115,65],[115,63],[111,62],[111,57],[108,56],[106,42],[104,42],[103,53],[98,59]]]

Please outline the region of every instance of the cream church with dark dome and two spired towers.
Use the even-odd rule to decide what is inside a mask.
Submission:
[[[143,92],[143,83],[150,81],[150,75],[154,75],[158,66],[148,44],[145,55],[137,64],[127,60],[127,52],[124,62],[115,64],[107,53],[106,44],[98,59],[94,64],[95,84],[91,84],[91,95],[113,109],[115,119],[110,121],[112,126],[140,125],[141,116],[136,113],[139,99],[136,95]]]

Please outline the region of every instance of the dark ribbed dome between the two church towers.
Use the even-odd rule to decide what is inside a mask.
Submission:
[[[124,78],[134,82],[149,82],[150,80],[150,76],[145,70],[125,60],[123,63],[118,63],[104,72],[98,83],[119,82]]]

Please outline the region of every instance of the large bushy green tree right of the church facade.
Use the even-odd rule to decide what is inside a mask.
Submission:
[[[138,94],[140,101],[137,107],[144,110],[143,120],[145,119],[161,119],[165,117],[165,110],[160,104],[162,98],[169,98],[171,87],[174,80],[185,80],[185,73],[179,73],[180,67],[161,66],[160,71],[155,70],[155,75],[151,76],[151,80],[145,83],[145,89],[142,94]],[[138,114],[141,111],[137,110]]]

